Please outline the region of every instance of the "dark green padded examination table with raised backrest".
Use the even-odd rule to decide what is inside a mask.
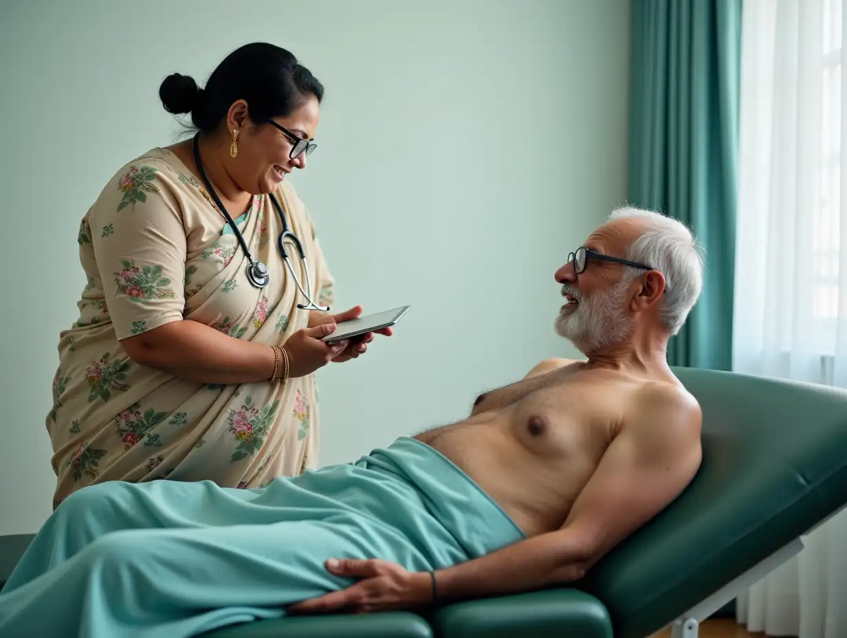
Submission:
[[[698,624],[803,547],[847,504],[847,391],[674,369],[703,408],[703,463],[664,512],[573,587],[434,613],[256,621],[206,638],[645,638]],[[30,541],[0,537],[0,584]],[[163,636],[163,638],[166,638]]]

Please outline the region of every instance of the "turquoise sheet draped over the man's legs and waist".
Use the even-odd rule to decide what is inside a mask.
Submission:
[[[352,581],[327,558],[443,569],[523,539],[447,458],[401,437],[257,490],[110,482],[67,498],[0,593],[0,635],[180,638]]]

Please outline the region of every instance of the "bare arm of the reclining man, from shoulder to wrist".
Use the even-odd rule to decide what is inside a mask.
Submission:
[[[700,408],[667,386],[639,392],[562,529],[435,574],[439,602],[579,580],[606,552],[667,507],[700,467]],[[423,576],[422,586],[429,580]]]

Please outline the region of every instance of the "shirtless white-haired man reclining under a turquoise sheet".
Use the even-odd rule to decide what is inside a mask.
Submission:
[[[699,468],[700,408],[665,352],[701,270],[684,225],[617,210],[556,271],[556,331],[585,360],[546,360],[468,419],[260,489],[80,490],[0,594],[0,635],[191,636],[579,580]]]

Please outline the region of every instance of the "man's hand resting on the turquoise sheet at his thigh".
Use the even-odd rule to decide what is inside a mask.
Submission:
[[[297,602],[289,613],[367,613],[428,607],[432,602],[431,576],[407,571],[384,560],[333,560],[332,574],[360,578],[355,585],[324,596]]]

